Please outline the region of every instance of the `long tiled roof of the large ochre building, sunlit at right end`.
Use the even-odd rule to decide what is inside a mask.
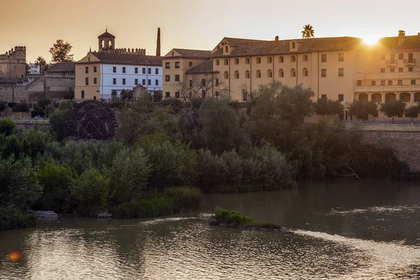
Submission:
[[[290,41],[296,41],[299,49],[290,51]],[[282,55],[292,53],[325,52],[333,50],[352,50],[362,43],[360,38],[332,37],[332,38],[309,38],[292,39],[281,41],[259,41],[254,43],[238,43],[230,55],[223,55],[223,49],[219,49],[211,57],[238,57],[251,55]]]

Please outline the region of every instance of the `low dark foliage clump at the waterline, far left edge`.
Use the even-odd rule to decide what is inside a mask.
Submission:
[[[0,207],[0,230],[14,228],[29,228],[36,225],[34,214],[23,214],[22,211],[11,207]]]

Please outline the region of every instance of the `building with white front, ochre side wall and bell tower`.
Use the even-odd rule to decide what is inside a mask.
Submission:
[[[162,57],[146,55],[144,49],[115,48],[108,32],[98,36],[98,52],[88,52],[76,62],[77,102],[87,99],[110,101],[123,90],[139,85],[148,92],[162,91]]]

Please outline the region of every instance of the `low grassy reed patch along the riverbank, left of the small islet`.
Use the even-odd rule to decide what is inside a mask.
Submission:
[[[153,218],[157,216],[194,211],[202,204],[200,190],[190,187],[168,188],[149,200],[111,207],[113,218]]]

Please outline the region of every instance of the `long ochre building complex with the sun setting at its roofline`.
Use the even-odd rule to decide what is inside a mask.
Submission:
[[[163,57],[163,96],[182,98],[180,83],[195,76],[214,76],[211,90],[247,102],[249,92],[279,80],[291,87],[311,87],[315,98],[343,104],[363,99],[420,102],[420,33],[379,39],[366,45],[360,38],[305,38],[274,41],[223,38],[213,50],[169,51]],[[195,83],[194,83],[195,85]],[[193,86],[194,86],[193,85]]]

